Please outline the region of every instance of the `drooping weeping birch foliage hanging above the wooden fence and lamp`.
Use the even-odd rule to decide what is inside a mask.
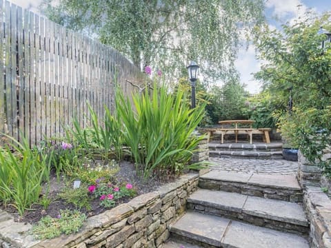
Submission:
[[[174,76],[193,59],[206,78],[225,79],[237,76],[237,49],[263,22],[263,2],[44,0],[41,9],[52,21],[96,35],[139,68]]]

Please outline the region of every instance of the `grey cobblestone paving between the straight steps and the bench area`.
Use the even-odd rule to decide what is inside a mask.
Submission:
[[[298,163],[285,160],[236,159],[210,157],[211,169],[228,172],[295,175]]]

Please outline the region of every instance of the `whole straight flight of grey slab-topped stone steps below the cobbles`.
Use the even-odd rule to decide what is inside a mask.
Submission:
[[[295,176],[210,171],[162,248],[308,248]]]

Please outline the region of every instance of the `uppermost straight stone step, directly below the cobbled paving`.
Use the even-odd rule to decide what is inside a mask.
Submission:
[[[199,178],[199,187],[249,196],[302,202],[302,190],[297,178],[278,174],[243,174],[212,170]]]

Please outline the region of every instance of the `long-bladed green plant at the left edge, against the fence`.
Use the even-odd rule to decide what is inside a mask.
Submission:
[[[26,139],[23,138],[19,143],[14,138],[7,137],[12,141],[10,146],[15,154],[8,146],[4,149],[6,155],[0,153],[1,172],[6,172],[5,175],[1,175],[4,180],[0,184],[0,189],[4,192],[3,196],[10,198],[10,204],[23,215],[26,209],[38,202],[41,183],[43,180],[49,180],[51,160],[47,158],[48,155],[43,156],[37,149],[30,149]],[[6,175],[10,178],[4,178]]]

